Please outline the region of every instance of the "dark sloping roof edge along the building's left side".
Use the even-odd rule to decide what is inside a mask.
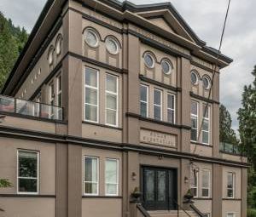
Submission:
[[[40,28],[40,26],[42,25],[42,23],[44,21],[45,15],[49,12],[49,9],[54,2],[55,2],[55,0],[48,0],[44,4],[44,9],[42,10],[41,14],[39,15],[35,26],[32,28],[32,31],[27,39],[27,42],[26,42],[24,48],[22,49],[18,59],[15,62],[15,66],[13,67],[12,71],[9,73],[9,77],[6,80],[6,82],[4,83],[3,89],[1,90],[1,94],[3,94],[5,92],[5,90],[7,89],[11,78],[14,76],[15,71],[17,70],[18,66],[20,65],[20,61],[23,59],[24,55],[26,54],[27,49],[29,48],[30,44],[32,43],[33,38],[36,36],[36,34],[38,32],[38,29]]]

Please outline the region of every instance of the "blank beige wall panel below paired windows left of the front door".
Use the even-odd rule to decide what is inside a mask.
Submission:
[[[122,216],[122,199],[83,199],[82,217],[120,217]]]

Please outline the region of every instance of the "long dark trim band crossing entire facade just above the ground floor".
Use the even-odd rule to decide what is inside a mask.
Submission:
[[[44,132],[20,129],[20,128],[10,128],[5,126],[0,126],[0,137],[9,137],[15,139],[22,140],[38,140],[38,141],[47,141],[51,143],[63,143],[68,145],[76,145],[76,146],[84,146],[84,147],[92,147],[92,148],[102,148],[106,150],[113,151],[137,151],[139,153],[145,155],[155,155],[155,156],[163,156],[163,157],[173,157],[173,158],[184,158],[189,159],[195,162],[203,162],[203,163],[213,163],[227,166],[234,166],[239,168],[248,168],[248,163],[240,163],[228,159],[221,159],[218,157],[207,157],[201,156],[188,152],[180,152],[173,150],[160,149],[156,147],[148,147],[135,145],[135,144],[127,144],[127,143],[114,143],[110,141],[102,141],[102,140],[92,140],[81,137],[75,137],[70,135],[61,135],[61,134],[49,134]]]

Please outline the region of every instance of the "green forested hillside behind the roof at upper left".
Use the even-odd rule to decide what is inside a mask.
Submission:
[[[7,20],[0,12],[0,89],[14,67],[27,37],[24,28],[14,26],[12,20]]]

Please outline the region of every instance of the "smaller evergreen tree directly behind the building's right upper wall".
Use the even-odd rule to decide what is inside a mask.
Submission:
[[[232,126],[232,119],[230,111],[224,105],[219,106],[219,140],[220,142],[230,143],[233,145],[238,144],[236,133]]]

